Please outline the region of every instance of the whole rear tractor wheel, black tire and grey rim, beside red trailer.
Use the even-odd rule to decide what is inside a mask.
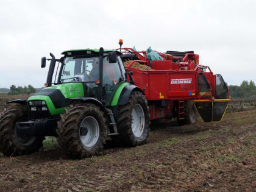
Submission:
[[[119,135],[113,139],[126,146],[146,143],[149,135],[149,110],[143,94],[133,91],[126,105],[119,106],[117,127]]]

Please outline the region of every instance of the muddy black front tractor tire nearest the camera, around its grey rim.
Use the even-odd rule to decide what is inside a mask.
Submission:
[[[91,119],[93,122],[95,122],[95,119],[98,123],[99,135],[96,138],[96,143],[92,146],[82,143],[81,137],[86,137],[89,129],[92,130],[90,126],[86,127],[86,130],[85,127],[80,127],[85,119]],[[60,149],[70,158],[84,158],[99,155],[103,150],[107,138],[107,119],[101,108],[94,104],[80,103],[70,105],[65,110],[65,113],[60,115],[57,135]]]

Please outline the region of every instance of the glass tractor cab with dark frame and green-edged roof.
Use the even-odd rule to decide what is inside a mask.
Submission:
[[[95,98],[104,105],[110,105],[116,88],[126,80],[121,53],[105,50],[101,54],[98,49],[79,49],[62,54],[64,56],[60,60],[51,59],[46,87],[82,84],[84,94],[79,97]],[[59,62],[57,69],[54,69],[55,62]],[[69,88],[69,91],[75,92],[76,89]]]

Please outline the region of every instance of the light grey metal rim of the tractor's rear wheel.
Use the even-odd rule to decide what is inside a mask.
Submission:
[[[145,117],[144,111],[140,104],[132,107],[132,132],[135,137],[141,137],[144,132]]]

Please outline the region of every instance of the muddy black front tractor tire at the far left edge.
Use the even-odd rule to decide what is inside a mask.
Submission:
[[[19,138],[15,133],[16,122],[27,121],[26,105],[16,104],[0,115],[0,152],[7,157],[30,154],[43,146],[44,137]]]

